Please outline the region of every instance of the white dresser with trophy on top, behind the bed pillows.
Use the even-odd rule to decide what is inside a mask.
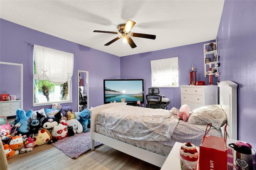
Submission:
[[[190,111],[205,105],[218,105],[217,85],[182,85],[180,86],[181,105],[188,105]]]

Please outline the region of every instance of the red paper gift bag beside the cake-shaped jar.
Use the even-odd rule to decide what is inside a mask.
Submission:
[[[212,127],[210,123],[208,126]],[[199,146],[198,170],[227,170],[228,150],[226,145],[226,125],[224,137],[206,136],[208,126]]]

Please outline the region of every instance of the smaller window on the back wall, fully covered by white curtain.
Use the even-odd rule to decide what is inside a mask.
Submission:
[[[178,87],[178,57],[150,61],[152,87]]]

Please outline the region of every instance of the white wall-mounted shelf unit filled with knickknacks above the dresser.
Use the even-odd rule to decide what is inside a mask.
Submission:
[[[204,77],[210,74],[217,76],[219,58],[216,42],[204,44]],[[211,67],[211,71],[209,71],[209,67]]]

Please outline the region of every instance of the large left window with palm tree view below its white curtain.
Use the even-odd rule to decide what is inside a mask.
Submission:
[[[71,101],[74,54],[34,45],[33,105]]]

